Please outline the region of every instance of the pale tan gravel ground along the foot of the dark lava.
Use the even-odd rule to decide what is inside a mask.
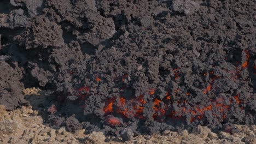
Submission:
[[[22,106],[13,111],[0,105],[0,143],[256,143],[256,125],[235,125],[237,133],[213,133],[198,126],[191,133],[165,130],[161,134],[139,135],[129,141],[119,137],[104,136],[102,132],[85,135],[85,129],[69,133],[65,127],[53,129],[43,123],[32,106]]]

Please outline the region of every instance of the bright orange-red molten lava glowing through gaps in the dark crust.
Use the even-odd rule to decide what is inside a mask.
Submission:
[[[249,55],[247,56],[247,61],[249,59]],[[254,66],[254,69],[256,67]],[[176,77],[179,76],[179,73],[177,72],[179,68],[173,69],[174,74]],[[221,77],[214,74],[214,71],[208,72],[210,74],[210,84],[206,87],[206,89],[203,91],[203,94],[207,94],[209,91],[212,91],[212,85],[216,79],[220,79]],[[208,73],[204,73],[203,75],[206,76]],[[124,75],[122,77],[122,80],[124,81],[125,78],[128,77],[128,75]],[[126,87],[124,87],[126,88]],[[85,88],[82,88],[85,89]],[[148,94],[153,95],[155,94],[156,89],[151,88],[148,89]],[[179,91],[183,91],[180,88],[177,88],[174,90],[174,94],[176,95]],[[190,93],[187,92],[184,95],[190,96]],[[240,94],[234,96],[234,99],[236,100],[237,104],[240,104],[241,101],[239,99]],[[151,103],[153,103],[153,110],[155,113],[153,114],[153,118],[156,121],[164,122],[166,117],[171,117],[173,119],[182,119],[186,115],[190,114],[191,119],[190,122],[195,122],[196,119],[202,119],[205,115],[206,111],[212,111],[212,116],[217,117],[220,119],[225,119],[228,113],[228,110],[230,109],[231,105],[226,105],[224,104],[224,98],[219,97],[214,100],[214,98],[209,98],[209,101],[211,104],[202,106],[202,105],[194,105],[193,108],[188,108],[187,103],[188,100],[178,100],[178,101],[171,101],[171,94],[169,92],[166,92],[166,97],[161,100],[159,98],[154,98]],[[230,98],[230,103],[232,103],[232,99]],[[118,104],[115,104],[118,103]],[[179,105],[179,109],[173,109],[173,103],[177,103]],[[186,104],[186,105],[185,105]],[[113,105],[117,106],[117,109],[113,109]],[[146,105],[146,101],[144,100],[144,95],[141,94],[137,98],[133,99],[126,99],[125,97],[120,97],[119,102],[115,101],[115,99],[110,99],[107,101],[105,107],[104,107],[104,112],[105,114],[108,113],[119,113],[123,115],[126,118],[144,118],[143,117],[143,111],[144,111],[144,106]],[[243,107],[241,107],[243,109]],[[220,113],[221,115],[219,115]],[[110,125],[120,125],[120,119],[112,117],[108,118],[106,121]]]

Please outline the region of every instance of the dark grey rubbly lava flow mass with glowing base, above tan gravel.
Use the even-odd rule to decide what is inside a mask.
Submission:
[[[0,5],[0,104],[9,110],[25,103],[25,86],[49,89],[27,100],[53,127],[74,122],[71,131],[237,133],[234,124],[256,122],[254,1]]]

